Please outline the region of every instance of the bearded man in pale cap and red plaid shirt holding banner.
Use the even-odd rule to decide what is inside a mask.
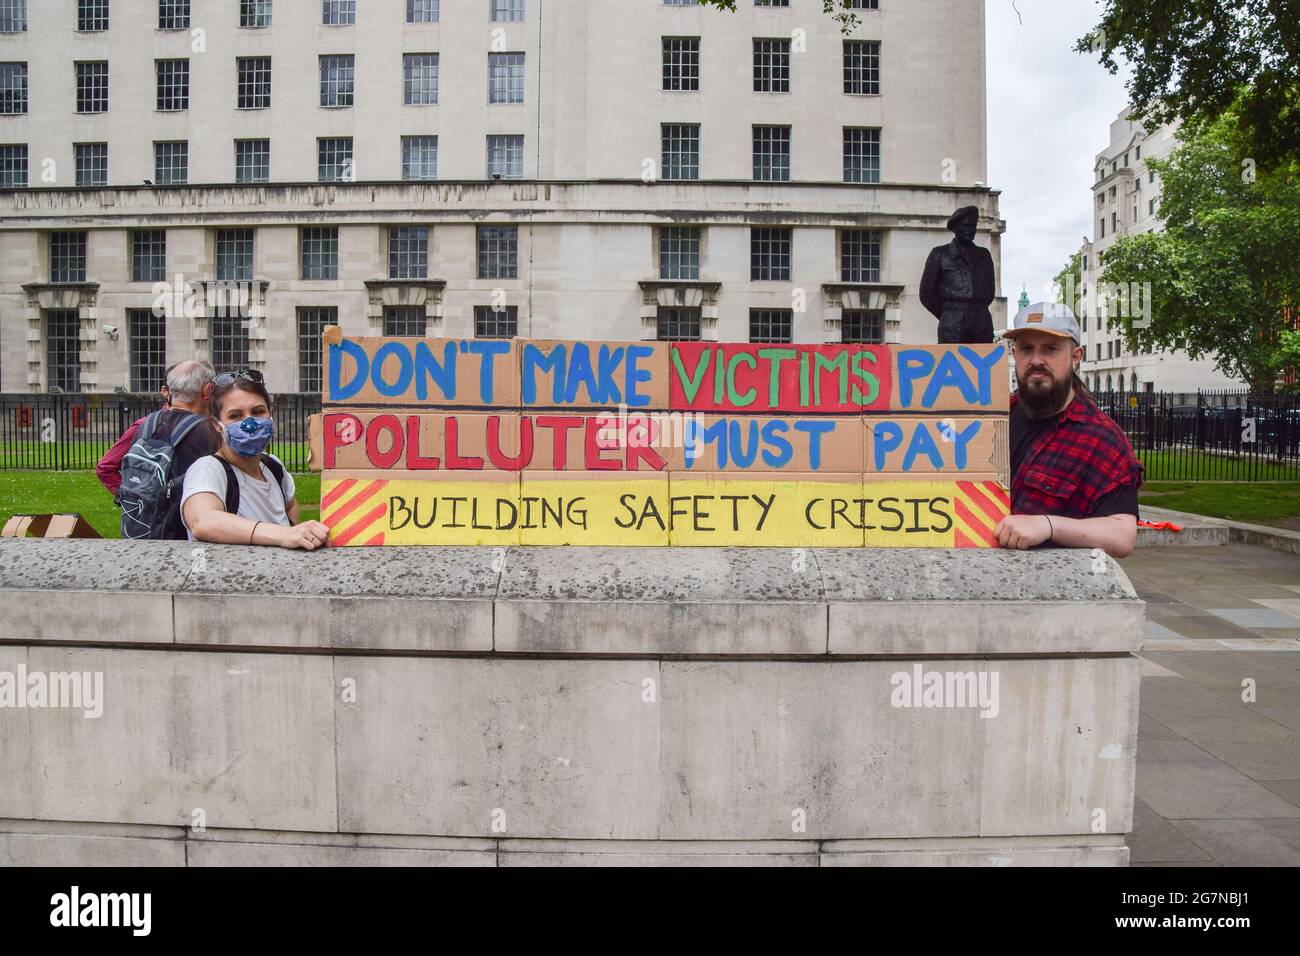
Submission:
[[[1141,463],[1079,378],[1079,321],[1067,306],[1020,310],[1011,339],[1011,514],[1004,548],[1101,548],[1123,558],[1138,540]]]

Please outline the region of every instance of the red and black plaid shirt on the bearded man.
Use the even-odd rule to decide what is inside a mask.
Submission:
[[[1140,484],[1141,472],[1119,425],[1076,393],[1011,476],[1011,514],[1088,518],[1104,494],[1131,481]]]

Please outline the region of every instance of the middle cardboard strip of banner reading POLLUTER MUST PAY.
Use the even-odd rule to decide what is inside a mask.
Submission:
[[[996,416],[328,412],[311,419],[311,453],[317,471],[1008,471]]]

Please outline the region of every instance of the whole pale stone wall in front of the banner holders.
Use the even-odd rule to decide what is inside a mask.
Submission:
[[[0,709],[0,862],[1127,862],[1088,553],[3,540],[0,606],[0,675],[104,682]]]

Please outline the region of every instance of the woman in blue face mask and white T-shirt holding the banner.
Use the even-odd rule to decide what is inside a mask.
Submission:
[[[185,473],[181,516],[192,541],[315,550],[329,544],[320,522],[298,523],[294,477],[266,446],[276,432],[261,372],[224,372],[212,381],[209,414],[221,449]]]

